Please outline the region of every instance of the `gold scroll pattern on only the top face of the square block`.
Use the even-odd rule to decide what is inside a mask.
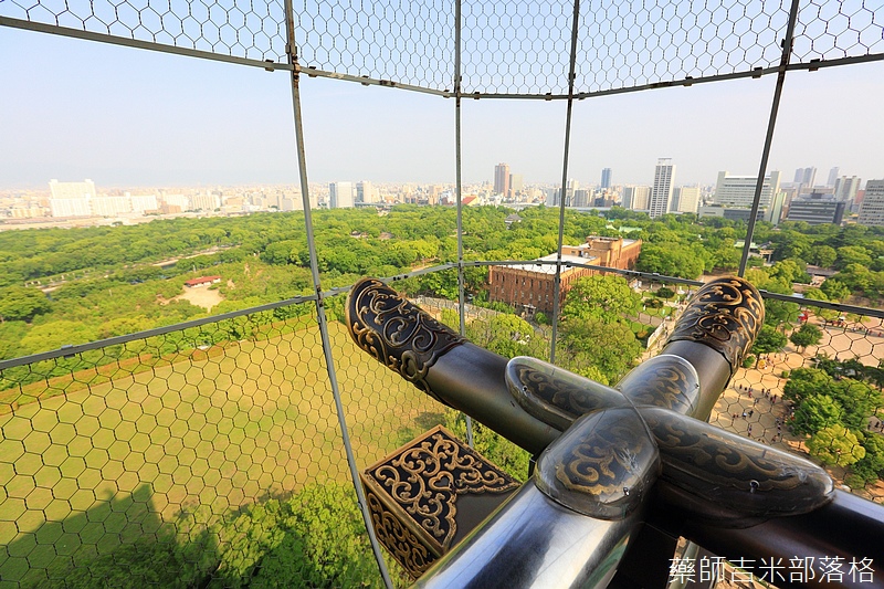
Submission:
[[[440,427],[369,474],[429,534],[440,553],[448,550],[457,532],[457,495],[503,493],[518,486]]]

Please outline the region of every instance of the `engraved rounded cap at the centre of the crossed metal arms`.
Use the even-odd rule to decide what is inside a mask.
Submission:
[[[578,513],[625,517],[659,470],[657,450],[634,408],[583,416],[544,452],[537,487]]]

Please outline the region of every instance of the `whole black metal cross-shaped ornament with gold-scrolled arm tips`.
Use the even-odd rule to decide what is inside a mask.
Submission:
[[[705,423],[764,320],[741,278],[704,286],[661,355],[615,388],[533,358],[507,362],[380,281],[354,286],[347,320],[362,349],[419,389],[544,452],[535,477],[419,585],[604,587],[643,519],[732,558],[873,561],[872,585],[814,583],[884,580],[881,506],[833,493],[808,461]]]

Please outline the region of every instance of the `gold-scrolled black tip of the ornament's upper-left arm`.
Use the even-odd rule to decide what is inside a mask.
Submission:
[[[430,367],[466,341],[377,278],[354,285],[347,328],[360,348],[434,398],[425,381]]]

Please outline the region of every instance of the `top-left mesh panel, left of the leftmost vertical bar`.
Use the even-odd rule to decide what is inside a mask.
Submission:
[[[257,61],[285,61],[282,1],[6,0],[0,15]]]

